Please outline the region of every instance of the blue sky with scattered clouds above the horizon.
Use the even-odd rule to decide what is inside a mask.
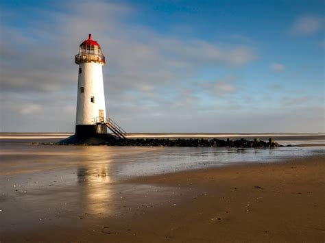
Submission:
[[[127,132],[325,133],[324,1],[0,1],[0,131],[75,129],[79,45]]]

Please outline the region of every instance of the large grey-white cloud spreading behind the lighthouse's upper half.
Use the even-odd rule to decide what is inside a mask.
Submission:
[[[1,43],[5,47],[1,52],[5,57],[3,91],[60,92],[74,86],[73,56],[88,33],[99,41],[108,60],[104,81],[109,81],[111,95],[126,90],[147,92],[149,87],[154,92],[195,76],[207,65],[240,68],[257,57],[249,46],[182,39],[126,24],[125,19],[136,14],[130,5],[82,1],[64,7],[64,14],[43,12],[52,21],[31,25],[28,31],[3,28],[4,36],[12,36]],[[21,48],[21,40],[27,49]]]

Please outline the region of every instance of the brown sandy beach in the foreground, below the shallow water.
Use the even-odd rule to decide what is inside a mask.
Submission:
[[[320,155],[125,179],[112,212],[66,201],[60,217],[7,218],[0,242],[324,242],[324,175]]]

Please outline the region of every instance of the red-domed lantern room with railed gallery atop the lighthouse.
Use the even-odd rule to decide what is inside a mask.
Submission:
[[[80,64],[82,62],[105,64],[105,57],[103,53],[101,53],[101,47],[96,40],[93,40],[91,34],[89,34],[87,40],[84,40],[84,42],[80,44],[79,53],[75,55],[75,63]]]

